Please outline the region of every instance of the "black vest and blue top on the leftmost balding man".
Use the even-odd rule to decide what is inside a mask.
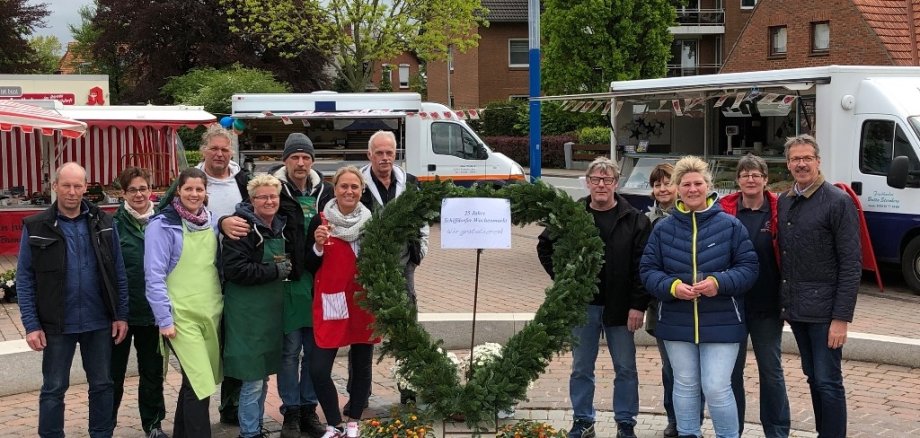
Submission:
[[[82,333],[128,317],[128,282],[112,218],[83,202],[74,219],[57,203],[26,218],[16,289],[26,333]]]

